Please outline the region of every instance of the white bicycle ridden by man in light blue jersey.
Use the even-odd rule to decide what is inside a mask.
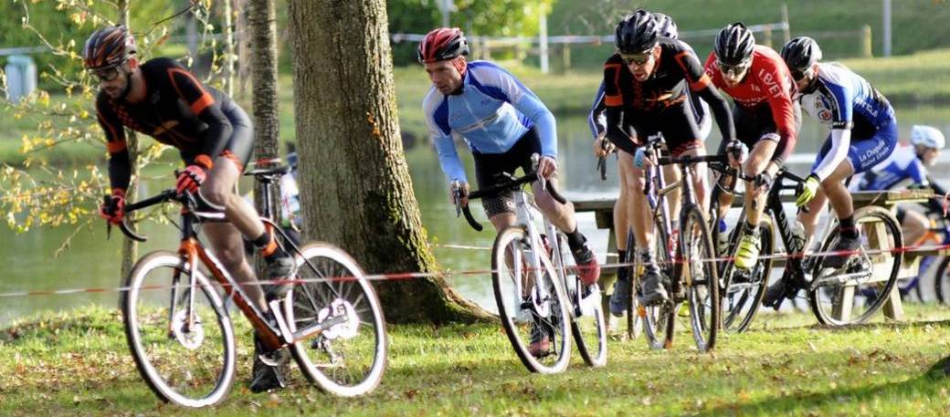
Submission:
[[[532,157],[535,168],[537,159],[537,155]],[[523,191],[523,184],[535,181],[541,182],[554,199],[566,203],[553,184],[535,172],[467,196],[472,200],[513,191],[518,222],[495,237],[491,251],[492,288],[504,331],[524,367],[533,372],[555,373],[567,368],[571,351],[568,332],[574,334],[580,356],[588,365],[603,366],[607,362],[607,331],[599,287],[580,282],[577,267],[571,265],[574,258],[567,237]],[[468,206],[461,204],[463,196],[456,190],[457,213],[464,213],[468,224],[482,231]],[[545,338],[546,350],[530,350],[532,342]]]

